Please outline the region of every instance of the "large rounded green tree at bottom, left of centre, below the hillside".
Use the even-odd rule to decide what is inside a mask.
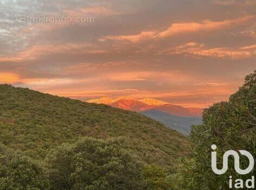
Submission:
[[[46,158],[52,189],[137,190],[142,167],[124,150],[123,140],[84,138],[57,147]]]

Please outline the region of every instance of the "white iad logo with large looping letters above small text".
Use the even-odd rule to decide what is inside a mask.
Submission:
[[[237,173],[239,173],[241,175],[245,175],[245,174],[250,173],[253,170],[254,158],[253,158],[252,154],[249,153],[248,151],[242,151],[242,150],[239,151],[240,154],[245,155],[249,160],[249,166],[246,169],[241,169],[240,168],[239,154],[238,154],[238,152],[232,151],[232,150],[225,152],[225,154],[223,155],[223,167],[222,167],[222,169],[217,169],[217,153],[215,152],[216,148],[217,148],[216,145],[212,145],[212,150],[214,150],[212,152],[212,169],[213,169],[213,172],[215,174],[221,175],[221,174],[224,174],[224,173],[227,172],[227,170],[228,170],[228,157],[230,155],[232,155],[234,157],[234,167],[235,167],[235,171]],[[230,178],[229,188],[233,188],[232,176],[230,176],[229,178]],[[249,183],[251,185],[249,185]],[[247,188],[254,188],[254,176],[252,176],[252,179],[246,180],[245,186]],[[235,188],[244,188],[244,181],[241,180],[241,179],[236,179],[234,187]]]

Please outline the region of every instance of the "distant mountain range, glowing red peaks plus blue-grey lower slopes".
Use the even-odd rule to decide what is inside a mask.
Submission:
[[[139,112],[144,116],[160,121],[164,125],[184,135],[189,135],[191,125],[199,125],[202,123],[202,108],[185,108],[153,98],[137,100],[130,97],[119,97],[117,99],[103,97],[87,102],[107,104],[123,110]]]

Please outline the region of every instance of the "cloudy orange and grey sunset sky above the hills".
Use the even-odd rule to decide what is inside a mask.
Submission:
[[[0,83],[206,107],[256,69],[256,1],[0,0]],[[94,17],[11,22],[10,15]]]

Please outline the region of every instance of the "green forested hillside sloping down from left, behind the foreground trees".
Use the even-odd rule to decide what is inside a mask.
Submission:
[[[31,158],[80,137],[120,136],[145,163],[172,165],[188,152],[182,134],[139,113],[0,85],[0,142]]]

